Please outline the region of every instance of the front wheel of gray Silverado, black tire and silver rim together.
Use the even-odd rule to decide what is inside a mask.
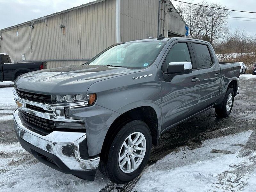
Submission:
[[[134,120],[125,124],[110,144],[108,155],[102,155],[100,172],[119,184],[133,180],[147,164],[151,144],[146,123]]]

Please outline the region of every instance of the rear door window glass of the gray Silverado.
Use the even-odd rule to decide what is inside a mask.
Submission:
[[[207,45],[194,43],[199,68],[210,67],[212,58]]]

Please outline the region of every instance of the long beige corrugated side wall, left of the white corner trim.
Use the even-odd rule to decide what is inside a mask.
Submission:
[[[0,52],[9,54],[12,62],[21,62],[21,54],[26,61],[49,60],[48,68],[80,64],[80,43],[82,60],[116,43],[116,1],[101,1],[31,24],[34,28],[24,24],[0,30]],[[60,24],[65,28],[60,29]]]

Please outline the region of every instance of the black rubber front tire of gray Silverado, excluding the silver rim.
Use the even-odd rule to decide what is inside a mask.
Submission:
[[[125,173],[119,167],[119,151],[126,138],[134,132],[140,132],[144,135],[146,140],[146,153],[140,165],[133,172]],[[133,180],[139,176],[140,172],[147,164],[151,151],[151,145],[151,132],[145,122],[134,120],[125,124],[116,134],[113,141],[110,142],[110,146],[108,147],[109,151],[106,151],[105,154],[100,155],[100,172],[107,176],[109,180],[118,184],[123,184]]]

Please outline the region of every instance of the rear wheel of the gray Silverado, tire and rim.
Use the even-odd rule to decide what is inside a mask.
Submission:
[[[231,113],[234,103],[234,91],[232,88],[229,88],[226,92],[223,104],[221,108],[215,108],[215,113],[219,117],[227,117]]]

